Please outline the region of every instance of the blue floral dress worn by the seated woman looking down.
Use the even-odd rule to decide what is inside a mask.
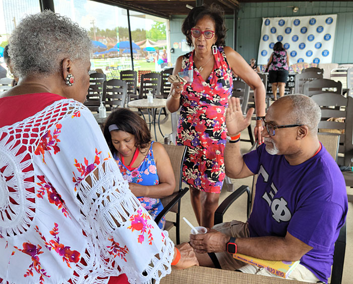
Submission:
[[[153,150],[151,142],[151,147],[145,157],[145,159],[141,162],[141,164],[130,171],[122,161],[114,155],[114,159],[117,161],[117,165],[119,166],[120,172],[123,174],[123,178],[128,182],[139,183],[141,185],[157,185],[159,184],[159,177],[157,174],[156,162],[153,157]],[[137,198],[141,205],[148,211],[148,213],[152,216],[153,219],[157,217],[157,215],[163,210],[163,204],[160,202],[159,198],[150,198],[150,197],[138,197]],[[163,229],[165,225],[165,217],[163,217],[158,226]]]

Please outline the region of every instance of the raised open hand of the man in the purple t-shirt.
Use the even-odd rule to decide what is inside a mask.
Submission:
[[[244,117],[239,98],[230,98],[225,113],[225,124],[227,126],[228,135],[236,136],[247,128],[251,123],[253,113],[254,108],[250,108],[246,117]]]

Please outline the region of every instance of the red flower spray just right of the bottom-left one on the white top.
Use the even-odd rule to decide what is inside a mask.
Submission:
[[[59,233],[58,224],[54,223],[54,227],[52,231],[49,232],[54,237],[54,239],[49,240],[49,242],[46,241],[45,236],[42,235],[42,233],[39,231],[38,226],[35,226],[35,230],[39,234],[40,238],[44,241],[45,247],[49,251],[51,251],[51,249],[55,250],[56,253],[62,256],[63,261],[66,262],[68,267],[72,268],[70,265],[70,262],[74,262],[74,263],[79,262],[81,254],[78,251],[72,251],[70,250],[70,247],[60,244],[60,238],[58,236],[58,233]]]

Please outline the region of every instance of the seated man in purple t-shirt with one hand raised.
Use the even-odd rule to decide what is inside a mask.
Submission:
[[[206,234],[190,235],[200,265],[213,266],[206,252],[216,252],[223,269],[262,274],[256,266],[232,258],[227,248],[249,256],[300,260],[289,278],[324,281],[331,273],[334,243],[347,214],[344,178],[317,137],[319,106],[304,95],[275,101],[264,119],[265,143],[242,155],[238,133],[247,128],[239,99],[226,112],[226,173],[232,178],[258,175],[253,211],[246,223],[232,221]],[[229,249],[228,249],[229,252]],[[244,267],[242,267],[244,266]],[[264,273],[266,274],[266,273]]]

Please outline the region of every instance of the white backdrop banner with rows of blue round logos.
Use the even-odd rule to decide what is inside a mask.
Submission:
[[[267,64],[273,45],[283,43],[289,64],[331,63],[337,15],[262,18],[258,64]]]

